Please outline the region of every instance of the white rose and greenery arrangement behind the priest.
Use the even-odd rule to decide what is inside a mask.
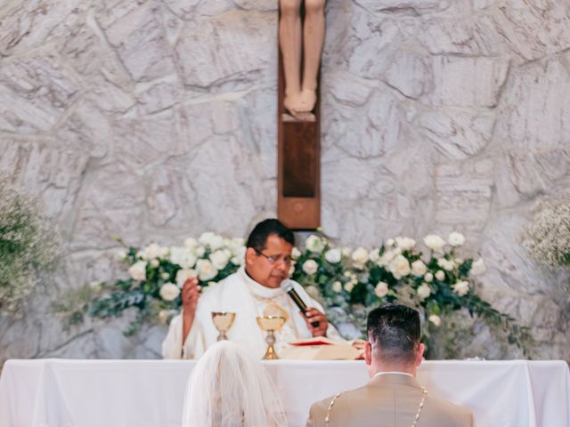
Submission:
[[[467,309],[503,326],[514,320],[474,293],[473,278],[485,272],[485,262],[454,255],[455,248],[465,244],[462,234],[452,233],[448,241],[431,234],[423,242],[430,249],[426,253],[407,237],[353,251],[312,235],[305,240],[305,250],[293,249],[290,276],[323,303],[331,322],[354,323],[361,330],[366,318],[362,309],[398,301],[420,309],[427,334],[430,327],[442,326],[453,310]],[[120,259],[129,265],[130,278],[111,286],[102,284],[89,314],[105,318],[135,307],[140,313],[135,322],[168,321],[182,304],[181,289],[188,278],[197,277],[200,286],[214,286],[243,265],[244,254],[243,239],[211,232],[198,239],[186,238],[183,246],[129,248]],[[129,333],[136,328],[133,324]]]

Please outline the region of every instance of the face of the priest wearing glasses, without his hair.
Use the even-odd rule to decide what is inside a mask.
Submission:
[[[265,241],[265,249],[246,251],[246,271],[250,278],[267,287],[279,287],[281,281],[289,278],[291,251],[293,246],[275,234]]]

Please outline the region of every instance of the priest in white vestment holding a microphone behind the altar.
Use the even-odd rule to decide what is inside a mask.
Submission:
[[[292,282],[297,294],[309,307],[305,315],[289,295],[281,290],[281,282],[289,278],[291,251],[295,245],[293,232],[275,219],[259,222],[246,244],[245,266],[208,286],[200,295],[197,278],[186,280],[182,291],[183,310],[172,319],[162,343],[165,359],[198,359],[219,334],[212,322],[212,312],[236,313],[227,332],[230,340],[241,342],[261,358],[266,350],[265,332],[257,326],[258,316],[282,316],[285,323],[275,333],[279,352],[282,344],[312,336],[341,339],[329,324],[322,306],[315,302],[303,286]]]

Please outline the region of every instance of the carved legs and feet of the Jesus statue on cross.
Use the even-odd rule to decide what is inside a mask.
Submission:
[[[303,2],[305,20],[301,22]],[[317,75],[324,42],[325,2],[326,0],[280,0],[279,42],[285,75],[283,105],[293,116],[310,113],[317,101]]]

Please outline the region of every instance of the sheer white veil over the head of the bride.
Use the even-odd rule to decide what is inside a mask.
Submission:
[[[240,344],[216,342],[191,372],[182,427],[260,426],[287,426],[269,374]]]

